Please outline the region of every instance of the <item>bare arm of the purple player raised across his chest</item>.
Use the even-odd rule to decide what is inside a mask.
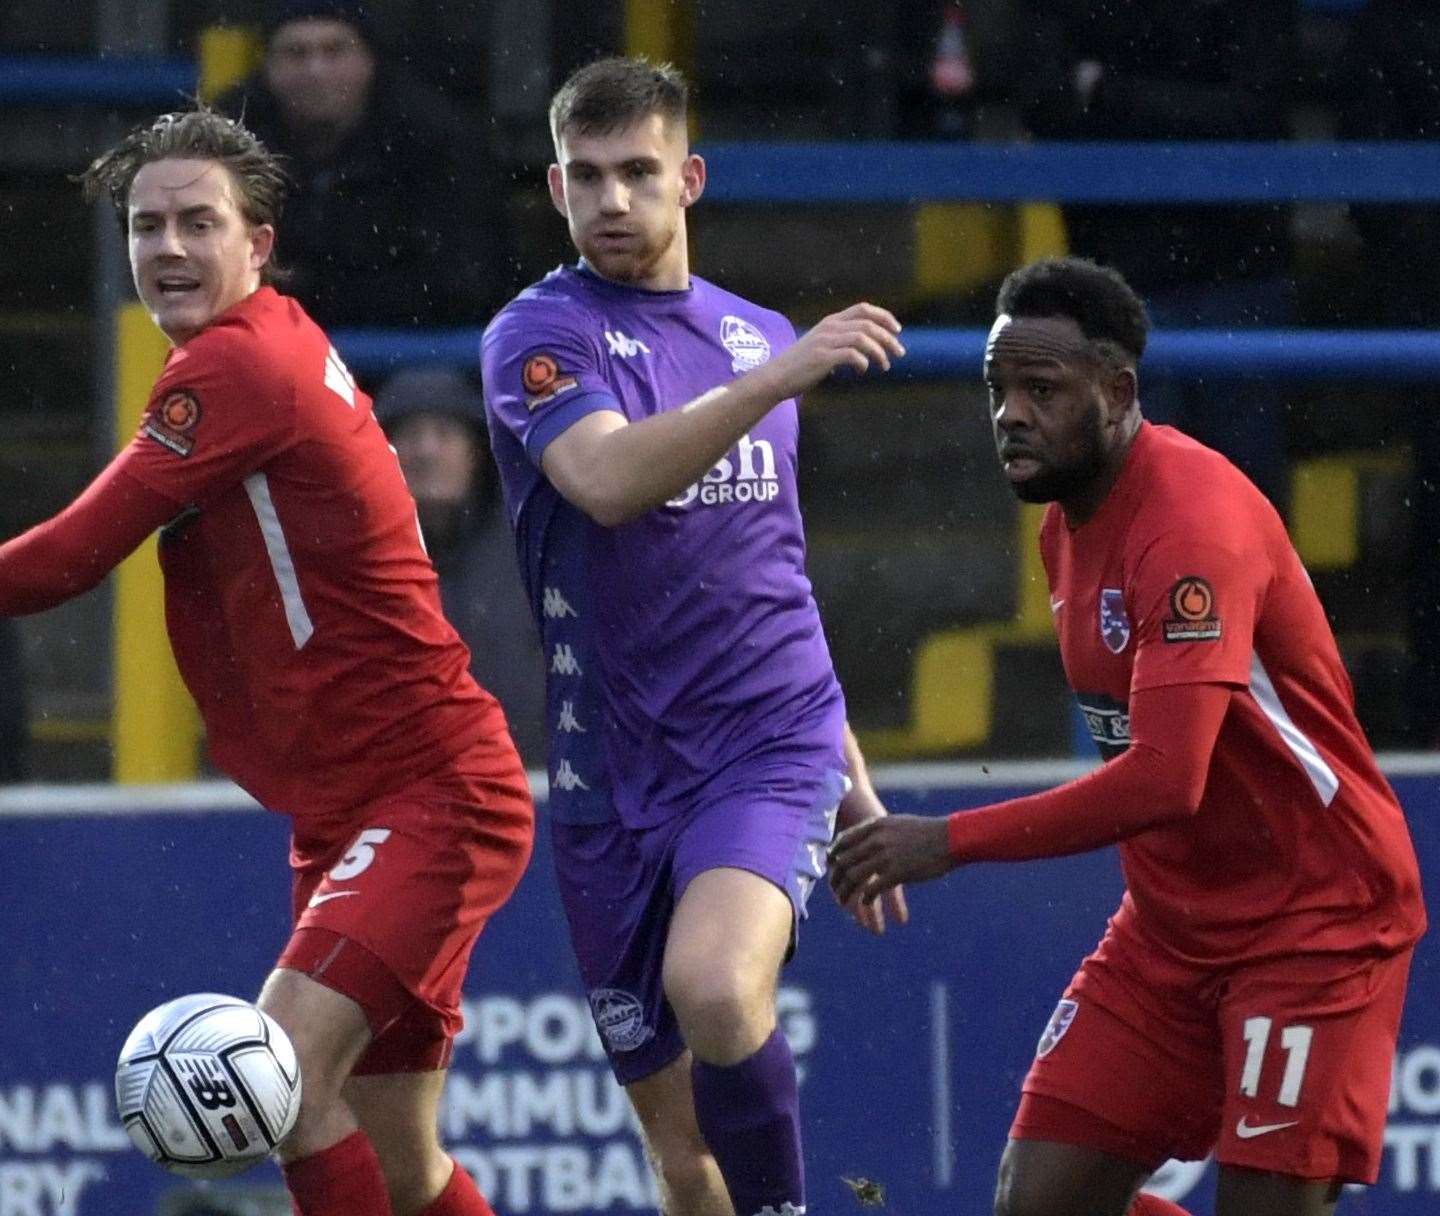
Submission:
[[[596,523],[628,523],[704,477],[782,401],[841,367],[888,372],[890,362],[903,354],[894,316],[874,304],[852,304],[769,363],[680,409],[642,422],[626,422],[612,411],[582,418],[544,450],[544,474]]]

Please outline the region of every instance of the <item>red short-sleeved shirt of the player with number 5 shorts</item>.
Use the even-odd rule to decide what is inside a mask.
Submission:
[[[328,817],[504,739],[370,399],[294,300],[261,288],[173,350],[118,462],[183,507],[160,539],[176,661],[266,807]]]

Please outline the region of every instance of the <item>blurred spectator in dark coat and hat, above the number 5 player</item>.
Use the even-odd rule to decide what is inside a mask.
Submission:
[[[217,108],[285,158],[278,255],[323,327],[475,324],[513,291],[498,171],[376,53],[363,0],[279,0]]]

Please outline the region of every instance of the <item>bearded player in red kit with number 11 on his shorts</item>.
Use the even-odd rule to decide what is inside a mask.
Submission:
[[[1044,501],[1066,674],[1106,764],[834,846],[837,895],[1119,843],[1126,893],[1041,1036],[1005,1216],[1120,1216],[1168,1157],[1220,1216],[1322,1216],[1378,1173],[1426,913],[1410,833],[1284,526],[1228,461],[1140,418],[1148,320],[1093,262],[1001,287],[999,460]]]

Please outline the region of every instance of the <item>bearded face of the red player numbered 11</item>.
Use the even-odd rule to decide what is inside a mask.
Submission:
[[[1086,497],[1107,467],[1104,365],[1068,317],[1002,317],[985,360],[1001,468],[1027,503]]]

